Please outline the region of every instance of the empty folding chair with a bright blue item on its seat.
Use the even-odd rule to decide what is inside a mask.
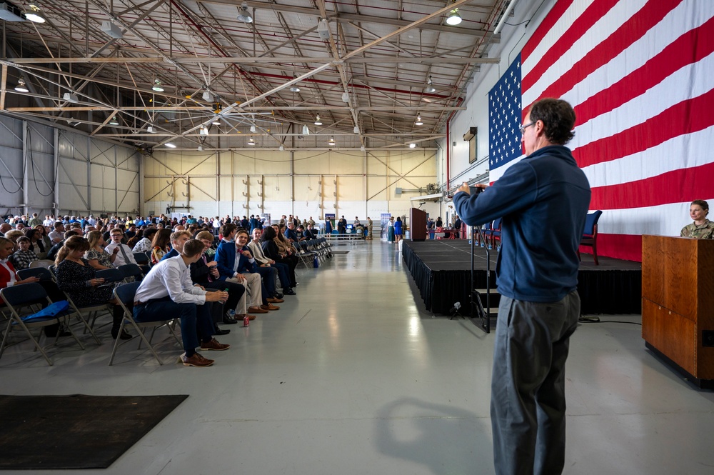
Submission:
[[[50,305],[61,306],[61,302],[56,302],[52,304],[45,289],[36,282],[31,282],[29,284],[21,284],[11,287],[6,287],[0,290],[0,299],[5,301],[7,309],[9,310],[9,319],[7,327],[5,329],[5,334],[2,339],[2,344],[0,344],[0,357],[5,351],[7,346],[7,341],[10,334],[14,330],[22,329],[25,334],[32,340],[35,344],[35,348],[40,351],[47,364],[52,366],[52,360],[45,353],[42,346],[39,344],[39,339],[42,337],[42,327],[50,326],[54,324],[61,324],[67,322],[69,319],[70,311],[67,309],[59,311],[55,315],[49,314],[48,307]],[[66,302],[65,302],[66,303]],[[39,328],[39,334],[37,338],[30,331],[31,329]],[[84,349],[84,345],[77,339],[74,331],[72,331],[69,324],[67,329],[71,334],[74,341],[77,342],[81,349]],[[57,336],[54,339],[54,344],[57,344],[57,340],[60,338],[61,332],[57,332]]]

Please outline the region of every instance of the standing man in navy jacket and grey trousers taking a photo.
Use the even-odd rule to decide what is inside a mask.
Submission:
[[[565,144],[575,112],[542,99],[521,126],[525,159],[483,193],[453,196],[472,226],[502,217],[491,381],[496,473],[560,474],[565,462],[565,359],[580,314],[578,245],[590,185]]]

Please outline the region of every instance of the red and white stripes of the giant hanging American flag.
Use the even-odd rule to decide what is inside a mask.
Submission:
[[[560,0],[520,60],[521,120],[543,97],[575,109],[598,254],[640,261],[642,234],[679,236],[690,201],[714,205],[714,1]]]

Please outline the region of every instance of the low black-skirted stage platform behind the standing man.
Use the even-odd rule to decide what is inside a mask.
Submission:
[[[640,314],[642,311],[642,266],[591,254],[580,254],[578,294],[581,314]],[[422,242],[404,241],[402,256],[416,281],[426,309],[447,314],[461,302],[468,314],[471,301],[471,244],[464,239]],[[491,288],[496,288],[496,259],[491,251]],[[486,288],[486,249],[476,247],[473,261],[475,289]]]

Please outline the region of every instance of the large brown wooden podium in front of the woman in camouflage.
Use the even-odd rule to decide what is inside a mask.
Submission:
[[[642,337],[697,386],[714,389],[714,241],[642,236]]]

